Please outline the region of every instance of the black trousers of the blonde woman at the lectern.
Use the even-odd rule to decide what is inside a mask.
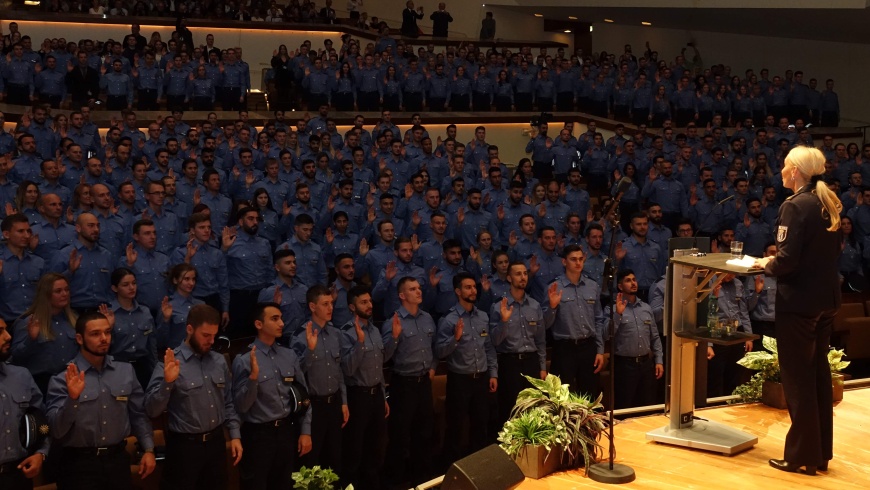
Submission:
[[[791,427],[785,460],[819,465],[834,456],[834,405],[828,345],[837,310],[776,312],[776,341]],[[808,380],[815,379],[815,385]]]

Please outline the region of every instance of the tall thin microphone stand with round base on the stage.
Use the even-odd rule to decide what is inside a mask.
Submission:
[[[613,218],[610,219],[610,253],[607,256],[607,260],[604,262],[604,280],[607,282],[607,287],[610,290],[611,298],[610,325],[608,327],[608,336],[610,337],[610,379],[608,384],[610,389],[611,406],[609,410],[610,413],[608,414],[608,425],[610,426],[610,430],[607,432],[607,439],[610,443],[610,454],[608,457],[608,462],[600,462],[590,465],[589,470],[587,471],[590,479],[599,483],[611,484],[629,483],[634,481],[636,477],[634,469],[632,469],[630,466],[613,462],[613,459],[616,457],[616,446],[614,446],[613,444],[613,409],[616,405],[614,382],[614,378],[616,375],[616,371],[614,369],[616,363],[616,349],[614,347],[614,337],[616,334],[616,287],[614,284],[614,280],[616,278],[616,270],[618,268],[614,255],[616,253],[616,236],[617,229],[619,227],[619,203],[620,201],[622,201],[622,195],[622,192],[618,193],[614,198],[613,205],[611,206],[610,213],[613,214]],[[605,217],[606,216],[607,215],[605,215]]]

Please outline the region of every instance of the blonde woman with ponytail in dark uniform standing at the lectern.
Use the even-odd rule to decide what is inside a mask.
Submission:
[[[794,195],[779,208],[777,253],[756,261],[776,277],[776,340],[782,386],[791,417],[784,459],[770,465],[814,475],[833,457],[834,415],[827,353],[834,315],[840,308],[837,260],[843,205],[821,180],[825,157],[798,146],[782,169]]]

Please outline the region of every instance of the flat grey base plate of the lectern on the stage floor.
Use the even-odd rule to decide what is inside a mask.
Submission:
[[[758,444],[758,438],[727,425],[695,420],[691,427],[662,427],[646,433],[647,440],[674,446],[702,449],[722,454],[737,454]]]

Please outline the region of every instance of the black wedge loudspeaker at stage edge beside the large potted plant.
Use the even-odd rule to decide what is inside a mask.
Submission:
[[[524,479],[514,460],[493,444],[453,463],[441,490],[508,490]]]

